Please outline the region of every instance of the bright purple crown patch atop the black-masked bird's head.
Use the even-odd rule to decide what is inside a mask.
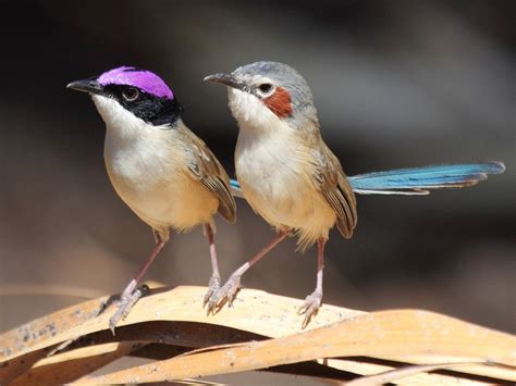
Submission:
[[[174,95],[167,84],[155,73],[146,70],[137,70],[135,67],[121,66],[110,70],[97,79],[102,86],[106,85],[124,85],[134,86],[151,94],[156,97],[174,99]]]

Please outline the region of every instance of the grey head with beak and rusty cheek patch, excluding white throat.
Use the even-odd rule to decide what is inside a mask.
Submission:
[[[319,125],[310,87],[305,78],[287,64],[255,62],[236,69],[230,75],[209,75],[205,77],[205,82],[219,83],[255,96],[292,127]]]

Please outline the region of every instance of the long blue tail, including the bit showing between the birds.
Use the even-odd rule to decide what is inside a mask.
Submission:
[[[353,190],[360,195],[428,195],[430,189],[471,186],[488,174],[505,171],[501,162],[423,166],[348,177]],[[231,180],[235,196],[242,197],[238,182]]]

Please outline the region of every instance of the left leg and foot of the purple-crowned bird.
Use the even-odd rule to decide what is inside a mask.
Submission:
[[[143,286],[140,288],[137,288],[137,286],[147,270],[149,269],[149,266],[157,258],[160,250],[163,249],[165,242],[167,241],[163,241],[159,236],[157,237],[157,244],[156,247],[152,249],[152,252],[150,252],[149,257],[145,260],[144,264],[142,264],[134,278],[130,282],[130,284],[127,284],[122,295],[120,296],[120,300],[116,304],[116,311],[109,320],[109,328],[111,329],[113,335],[114,327],[116,326],[116,324],[128,315],[133,306],[136,304],[139,298],[142,298],[142,296],[145,294],[145,291],[148,290],[147,286]]]

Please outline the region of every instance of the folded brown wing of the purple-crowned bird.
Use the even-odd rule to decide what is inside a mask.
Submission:
[[[219,213],[230,223],[236,220],[236,203],[230,190],[230,177],[206,144],[192,132],[193,162],[188,165],[192,175],[211,190],[219,199]]]

